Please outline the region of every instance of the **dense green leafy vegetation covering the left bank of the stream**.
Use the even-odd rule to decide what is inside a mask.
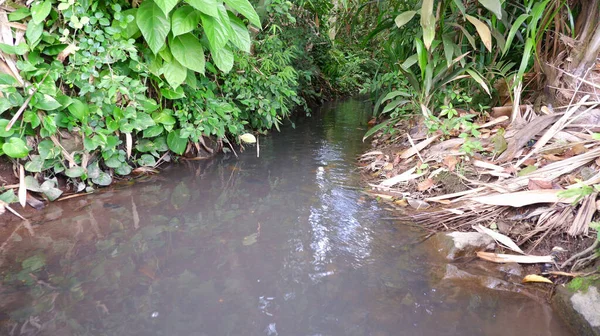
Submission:
[[[3,8],[0,157],[50,200],[64,190],[57,176],[73,191],[91,190],[171,153],[229,150],[242,134],[279,129],[292,111],[360,85],[352,73],[360,69],[332,51],[325,1]]]

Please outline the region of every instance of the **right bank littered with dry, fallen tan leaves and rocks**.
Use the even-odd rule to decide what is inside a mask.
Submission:
[[[405,131],[379,131],[371,139],[359,158],[363,179],[397,219],[432,235],[491,232],[498,242],[493,252],[474,257],[524,265],[521,281],[546,288],[546,299],[559,293],[558,310],[582,330],[586,318],[571,298],[588,291],[594,297],[600,285],[594,134],[600,110],[598,102],[584,103],[556,113],[525,106],[515,118],[484,115],[473,122],[478,132],[470,138],[431,133],[421,118],[400,121],[394,129]],[[465,144],[473,142],[478,149],[469,152]],[[540,257],[546,261],[536,262]],[[593,302],[579,306],[598,309]],[[587,321],[583,334],[596,335],[594,318]]]

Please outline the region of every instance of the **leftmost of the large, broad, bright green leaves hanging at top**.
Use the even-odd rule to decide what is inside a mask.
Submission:
[[[154,1],[145,0],[138,8],[136,22],[148,46],[157,54],[165,45],[165,39],[171,30],[169,18]]]

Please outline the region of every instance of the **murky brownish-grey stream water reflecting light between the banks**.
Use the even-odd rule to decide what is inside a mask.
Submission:
[[[357,189],[368,113],[331,104],[261,138],[260,158],[2,225],[0,334],[569,335],[525,296],[435,280],[423,233]]]

